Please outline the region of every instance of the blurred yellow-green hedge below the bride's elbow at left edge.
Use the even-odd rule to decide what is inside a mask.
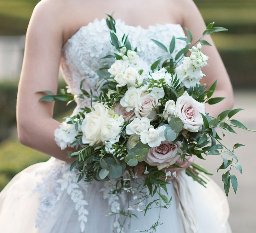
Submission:
[[[23,146],[17,140],[3,141],[0,148],[0,191],[13,176],[29,165],[49,159],[49,156]]]

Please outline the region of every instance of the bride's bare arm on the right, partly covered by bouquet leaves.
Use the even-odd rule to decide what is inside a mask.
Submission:
[[[182,26],[184,29],[186,27],[191,31],[193,41],[195,42],[202,36],[203,31],[206,29],[204,20],[192,0],[179,0],[175,2],[179,4],[180,14],[182,15],[181,20],[183,21]],[[203,73],[207,74],[208,76],[202,78],[202,83],[211,85],[217,79],[216,92],[212,97],[227,98],[216,105],[206,106],[207,113],[210,113],[211,116],[217,116],[222,111],[231,109],[233,107],[233,90],[225,66],[211,39],[211,36],[208,35],[204,39],[207,40],[212,46],[203,46],[202,48],[202,52],[209,57],[209,66],[205,66],[202,69]]]

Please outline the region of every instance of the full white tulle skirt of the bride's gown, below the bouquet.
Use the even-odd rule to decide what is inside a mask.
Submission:
[[[108,194],[111,186],[76,181],[69,165],[53,157],[18,173],[0,193],[0,232],[120,232],[117,221],[123,217],[106,216],[120,208],[120,200]],[[180,172],[167,189],[172,201],[168,209],[161,208],[159,222],[163,224],[156,232],[231,233],[227,198],[214,181],[210,179],[204,188]],[[126,204],[127,198],[122,202]],[[158,219],[158,208],[150,209],[146,216],[134,209],[138,219],[131,219],[130,228],[128,221],[124,233],[149,229]]]

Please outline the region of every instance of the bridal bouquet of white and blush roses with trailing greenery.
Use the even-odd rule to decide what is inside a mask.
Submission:
[[[74,147],[70,157],[75,159],[70,169],[77,169],[78,182],[110,182],[110,192],[115,198],[131,195],[135,204],[121,208],[118,202],[113,202],[115,206],[110,213],[128,218],[136,216],[136,206],[137,211],[145,214],[151,208],[168,208],[171,197],[166,185],[182,169],[205,186],[204,173],[209,173],[193,163],[194,157],[205,159],[205,155],[219,155],[222,164],[218,170],[224,170],[222,180],[226,195],[230,184],[236,192],[237,178],[232,168],[242,173],[242,167],[234,150],[243,145],[237,143],[228,149],[221,136],[225,131],[235,133],[234,127],[247,129],[232,119],[242,109],[209,116],[205,104],[214,105],[224,98],[212,98],[216,82],[210,87],[200,83],[206,76],[201,69],[208,60],[201,47],[210,46],[202,38],[226,29],[213,27],[211,23],[193,45],[188,29],[189,38],[170,38],[169,48],[152,39],[166,55],[150,66],[138,56],[137,48],[131,47],[128,35],[118,39],[112,15],[108,15],[106,23],[110,43],[116,51],[102,58],[101,61],[106,62],[98,71],[100,78],[95,90],[87,92],[82,82],[82,94],[76,95],[76,98],[89,98],[91,106],[84,106],[76,115],[66,117],[55,130],[55,140],[61,149]],[[175,50],[176,40],[186,42],[180,51]],[[73,101],[72,95],[61,92],[53,95],[47,91],[50,95],[41,100]],[[166,195],[160,189],[165,190]],[[149,202],[149,197],[156,194]],[[142,205],[145,208],[140,209]],[[118,223],[122,232],[124,223]],[[154,231],[160,224],[158,219],[149,230]]]

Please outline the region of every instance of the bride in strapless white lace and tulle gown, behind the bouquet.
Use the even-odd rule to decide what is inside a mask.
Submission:
[[[22,144],[51,156],[17,174],[0,193],[0,232],[3,233],[110,233],[120,232],[108,186],[94,181],[77,183],[69,171],[67,151],[54,140],[59,122],[52,118],[53,102],[39,102],[42,90],[56,93],[59,67],[72,94],[86,79],[89,90],[97,82],[99,59],[113,52],[104,13],[115,12],[118,35],[129,33],[138,55],[149,64],[162,53],[151,38],[168,44],[172,36],[184,37],[189,28],[200,38],[205,24],[192,0],[42,0],[35,7],[26,35],[25,55],[17,99],[18,137]],[[102,19],[102,20],[100,20]],[[213,44],[210,36],[206,38]],[[176,40],[176,50],[183,42]],[[203,49],[210,59],[204,68],[212,84],[218,79],[216,96],[227,97],[207,112],[216,116],[232,108],[229,77],[215,46]],[[86,104],[77,100],[77,108]],[[215,107],[216,106],[216,107]],[[179,191],[177,191],[179,190]],[[161,213],[159,233],[230,233],[229,207],[223,191],[210,180],[200,186],[181,171],[168,185],[171,206]],[[148,229],[158,217],[150,210],[131,220],[122,232]]]

